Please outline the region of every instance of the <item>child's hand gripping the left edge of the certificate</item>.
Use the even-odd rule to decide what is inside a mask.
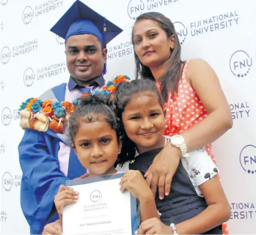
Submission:
[[[54,204],[59,213],[59,219],[62,220],[64,206],[76,203],[78,194],[79,192],[75,192],[73,191],[73,188],[68,188],[65,185],[59,187],[59,191],[54,197]]]

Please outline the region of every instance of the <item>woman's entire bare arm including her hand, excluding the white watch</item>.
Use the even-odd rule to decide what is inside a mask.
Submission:
[[[187,66],[187,79],[198,94],[208,116],[181,135],[187,145],[187,152],[203,148],[216,141],[232,128],[233,120],[229,104],[220,86],[215,71],[202,59],[192,59]],[[170,143],[155,157],[145,174],[153,193],[159,187],[159,198],[169,195],[171,180],[180,161],[180,149]]]

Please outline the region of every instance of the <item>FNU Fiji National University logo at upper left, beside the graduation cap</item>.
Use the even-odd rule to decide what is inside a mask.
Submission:
[[[26,6],[22,13],[22,20],[24,24],[30,24],[34,16],[40,16],[44,13],[51,12],[52,10],[58,9],[63,5],[64,0],[48,0],[40,5],[37,5],[34,10],[31,6]]]

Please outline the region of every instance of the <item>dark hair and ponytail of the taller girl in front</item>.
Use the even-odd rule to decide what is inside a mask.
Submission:
[[[143,92],[153,92],[156,94],[160,106],[163,107],[162,96],[159,92],[159,89],[156,86],[156,83],[149,79],[136,79],[131,80],[131,82],[124,82],[118,85],[114,94],[114,105],[115,113],[118,120],[121,120],[121,135],[122,135],[122,149],[120,155],[118,155],[117,164],[124,164],[125,162],[131,161],[135,158],[136,145],[131,139],[128,138],[124,125],[122,124],[122,113],[125,110],[125,107],[131,100],[134,94],[139,94]]]

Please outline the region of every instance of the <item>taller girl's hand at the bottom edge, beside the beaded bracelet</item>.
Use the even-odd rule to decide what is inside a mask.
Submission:
[[[135,234],[173,234],[173,230],[160,219],[151,218],[143,221]]]

